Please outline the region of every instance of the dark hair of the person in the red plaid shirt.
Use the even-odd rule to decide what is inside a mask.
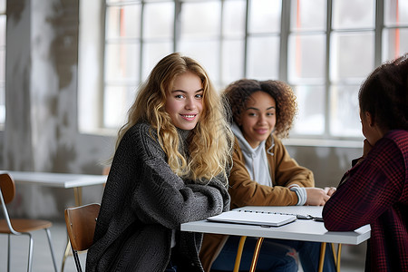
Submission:
[[[408,130],[408,53],[377,67],[358,92],[361,112],[384,130]]]

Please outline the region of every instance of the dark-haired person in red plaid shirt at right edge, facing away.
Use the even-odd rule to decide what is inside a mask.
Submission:
[[[370,224],[365,271],[408,271],[408,54],[375,69],[358,99],[363,157],[326,202],[325,228]]]

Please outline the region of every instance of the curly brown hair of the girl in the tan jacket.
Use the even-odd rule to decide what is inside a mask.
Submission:
[[[292,88],[284,82],[241,79],[230,83],[223,92],[223,97],[228,103],[232,115],[229,121],[237,123],[239,115],[245,109],[250,96],[258,91],[267,92],[277,102],[277,123],[274,133],[279,138],[286,138],[292,128],[297,112],[297,103]]]

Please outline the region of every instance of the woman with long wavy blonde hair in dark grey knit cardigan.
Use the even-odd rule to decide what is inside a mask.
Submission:
[[[180,224],[229,209],[233,134],[203,67],[171,53],[118,135],[86,271],[203,271]]]

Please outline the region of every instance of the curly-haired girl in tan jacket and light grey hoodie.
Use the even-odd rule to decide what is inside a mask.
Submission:
[[[296,114],[296,96],[287,83],[243,79],[223,93],[236,136],[228,192],[231,209],[244,206],[324,205],[335,191],[314,188],[311,170],[292,159],[278,137],[287,137]],[[240,268],[248,270],[257,238],[247,238]],[[206,271],[231,271],[239,238],[204,236],[200,258]],[[317,271],[320,243],[265,239],[257,260],[260,271]],[[335,271],[327,247],[324,271]]]

